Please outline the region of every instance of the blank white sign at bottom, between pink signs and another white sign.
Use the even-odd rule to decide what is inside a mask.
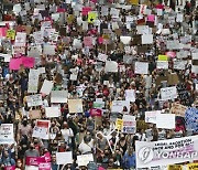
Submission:
[[[73,152],[72,151],[56,152],[56,161],[57,164],[73,163]]]

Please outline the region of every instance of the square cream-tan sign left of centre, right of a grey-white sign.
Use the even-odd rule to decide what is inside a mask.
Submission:
[[[69,113],[82,113],[82,100],[81,99],[68,99],[68,109]]]

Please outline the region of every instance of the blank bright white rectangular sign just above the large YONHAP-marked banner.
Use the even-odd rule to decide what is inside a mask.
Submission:
[[[175,115],[156,114],[156,127],[162,129],[175,129]]]

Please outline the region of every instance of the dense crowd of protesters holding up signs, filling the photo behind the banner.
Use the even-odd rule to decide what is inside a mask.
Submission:
[[[13,125],[14,140],[0,139],[0,169],[38,168],[28,164],[29,157],[45,158],[52,170],[135,169],[136,141],[198,134],[178,115],[173,129],[145,120],[146,111],[170,114],[174,104],[198,107],[196,1],[4,0],[2,4],[0,126]],[[20,33],[25,33],[24,44]],[[42,89],[45,81],[53,84],[50,93]],[[177,96],[169,92],[172,97],[164,99],[162,88],[167,87],[176,87]],[[59,96],[52,100],[55,91],[59,96],[67,92],[65,102],[56,103]],[[134,99],[127,92],[134,92]],[[30,105],[29,96],[36,94],[42,104]],[[81,103],[73,103],[76,99]],[[116,100],[123,102],[121,109]],[[48,107],[58,108],[59,115],[48,116]],[[135,118],[133,132],[117,126],[125,115]],[[35,135],[38,120],[48,120],[47,138]],[[69,151],[73,162],[57,163],[57,152]],[[84,155],[92,155],[94,168],[78,164],[77,157]]]

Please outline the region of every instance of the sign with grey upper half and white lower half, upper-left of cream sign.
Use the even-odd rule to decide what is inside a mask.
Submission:
[[[52,91],[51,93],[51,103],[67,103],[68,91]]]

